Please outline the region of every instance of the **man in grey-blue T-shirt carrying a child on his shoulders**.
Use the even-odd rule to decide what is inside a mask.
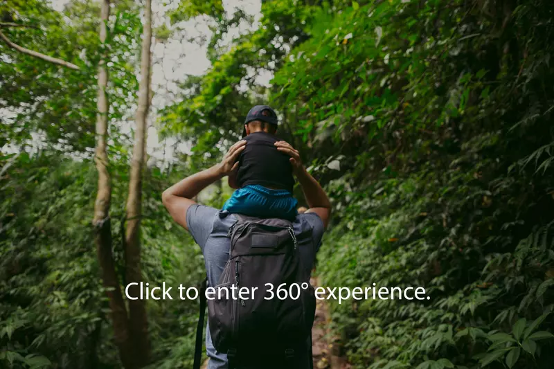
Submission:
[[[236,218],[226,210],[196,204],[193,198],[204,188],[228,176],[237,168],[236,159],[246,144],[246,141],[235,143],[225,154],[221,163],[179,181],[165,190],[162,195],[163,204],[172,218],[190,232],[202,249],[210,286],[217,285],[226,261],[229,260],[231,245],[227,233]],[[330,201],[319,183],[305,170],[298,151],[285,141],[278,141],[275,145],[279,151],[290,156],[294,175],[301,185],[309,207],[293,222],[303,266],[309,275],[316,252],[321,245],[323,231],[330,219]],[[210,358],[208,369],[227,368],[226,354],[217,352],[213,347],[209,327],[206,328],[206,351]],[[310,357],[307,353],[303,356],[305,366],[302,366],[306,369],[311,367]]]

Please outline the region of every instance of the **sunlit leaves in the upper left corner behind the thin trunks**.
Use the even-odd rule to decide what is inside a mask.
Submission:
[[[56,150],[90,154],[96,122],[99,9],[99,3],[91,0],[71,1],[63,13],[42,0],[10,1],[10,6],[0,3],[0,15],[36,26],[3,28],[12,42],[81,68],[60,68],[0,42],[0,108],[12,116],[1,118],[0,146],[32,146],[38,140]],[[110,118],[118,120],[127,113],[138,86],[131,55],[140,55],[140,42],[129,39],[139,39],[141,23],[131,1],[118,1],[113,12],[109,97]]]

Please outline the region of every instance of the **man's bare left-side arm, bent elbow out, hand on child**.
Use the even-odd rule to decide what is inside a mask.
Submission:
[[[238,143],[231,146],[231,149],[225,154],[221,163],[217,163],[211,168],[202,170],[202,172],[193,174],[190,177],[186,177],[163,191],[161,195],[163,206],[166,206],[166,209],[168,209],[168,212],[175,222],[188,230],[186,212],[191,205],[195,204],[193,197],[198,195],[204,188],[217,181],[217,179],[229,175],[229,173],[237,168],[238,162],[235,163],[235,159],[237,159],[238,154],[244,150],[244,145],[246,145],[246,141],[238,141]]]

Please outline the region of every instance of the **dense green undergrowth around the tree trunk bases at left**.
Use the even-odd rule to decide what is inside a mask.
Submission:
[[[93,248],[90,214],[96,191],[91,163],[58,156],[11,157],[0,182],[0,357],[8,368],[118,368],[109,308]],[[125,166],[114,163],[114,255],[124,282],[120,219]],[[199,249],[163,210],[168,186],[159,170],[147,171],[143,280],[177,289],[202,280]],[[123,185],[123,186],[121,186]],[[150,300],[152,368],[192,366],[197,302]]]

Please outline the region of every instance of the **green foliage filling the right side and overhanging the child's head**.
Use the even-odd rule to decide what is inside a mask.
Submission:
[[[269,103],[281,134],[334,206],[321,278],[423,286],[430,298],[333,305],[332,326],[352,364],[548,367],[548,3],[280,3],[263,4],[261,23],[289,21],[238,39],[162,123],[213,156],[212,147],[237,139],[240,114],[263,100],[255,87],[241,93],[240,81],[271,55]],[[272,53],[268,37],[283,53]],[[535,341],[532,332],[546,333]]]

